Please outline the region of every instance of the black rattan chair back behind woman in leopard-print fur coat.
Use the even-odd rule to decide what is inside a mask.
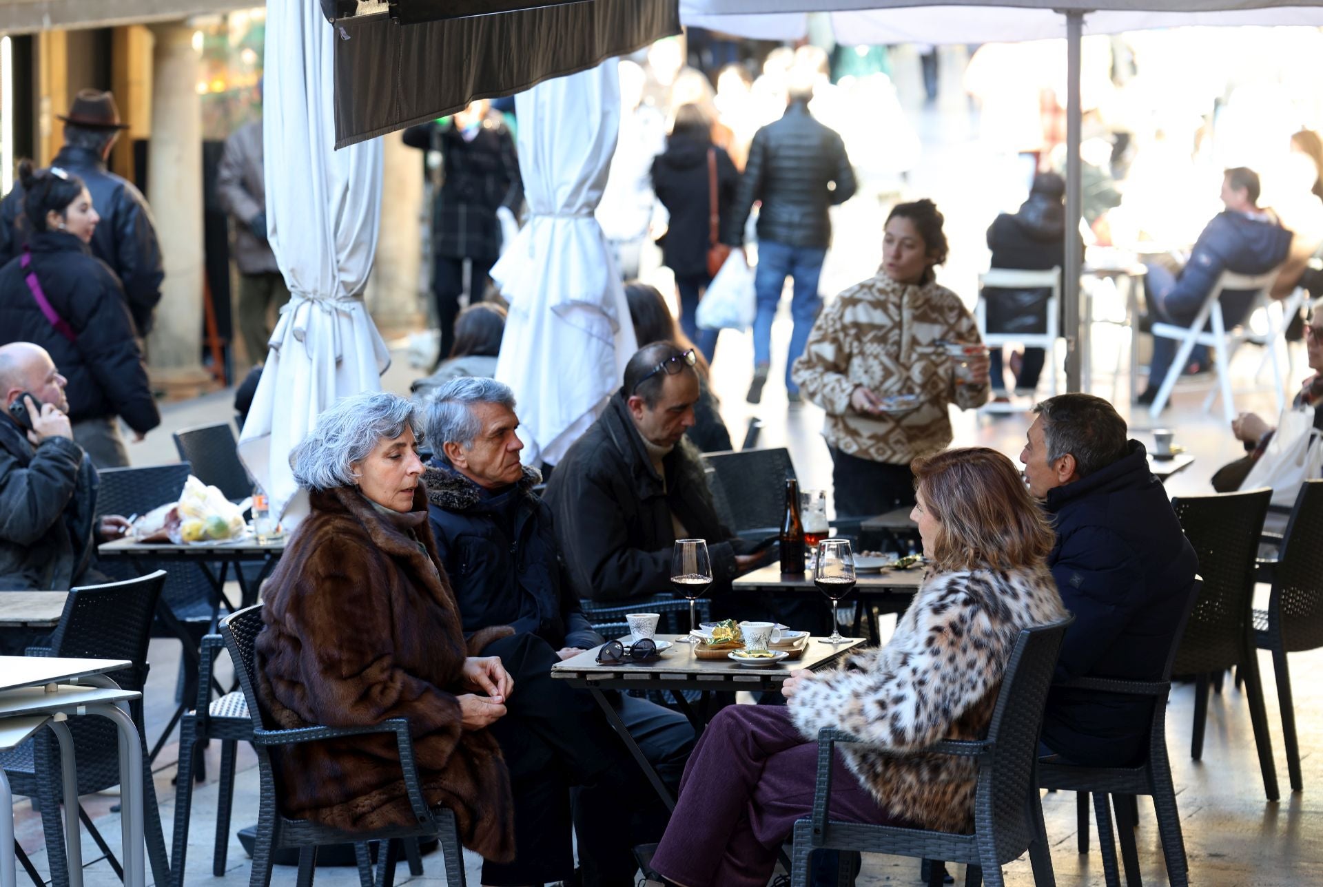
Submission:
[[[987,739],[994,746],[979,767],[974,824],[978,834],[995,835],[996,857],[1003,863],[1033,841],[1035,812],[1027,798],[1039,797],[1039,731],[1061,641],[1073,621],[1072,616],[1020,632],[988,722]]]

